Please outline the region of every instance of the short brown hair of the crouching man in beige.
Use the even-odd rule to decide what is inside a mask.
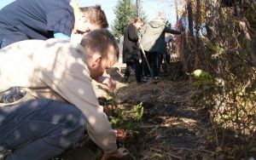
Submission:
[[[113,34],[107,29],[90,31],[83,37],[80,44],[85,50],[90,49],[93,52],[98,52],[102,54],[102,57],[107,57],[110,47],[113,47],[116,59],[119,58],[119,46]]]

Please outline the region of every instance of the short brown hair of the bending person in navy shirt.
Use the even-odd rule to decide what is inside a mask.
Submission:
[[[92,24],[99,25],[101,28],[108,28],[108,20],[106,14],[100,5],[79,8],[86,15],[87,20]]]

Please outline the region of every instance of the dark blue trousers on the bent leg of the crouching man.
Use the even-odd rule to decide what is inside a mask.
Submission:
[[[0,149],[11,150],[6,159],[55,157],[72,146],[84,129],[84,115],[67,103],[38,99],[0,107]]]

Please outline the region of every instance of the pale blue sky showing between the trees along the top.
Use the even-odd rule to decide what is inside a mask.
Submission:
[[[0,0],[0,9],[11,2],[14,2],[14,0]],[[113,9],[116,7],[118,0],[77,0],[77,2],[82,7],[100,4],[107,15],[109,24],[113,24],[112,22],[115,18]],[[148,16],[148,20],[153,19],[159,11],[164,11],[167,20],[172,23],[172,26],[175,25],[176,14],[173,0],[141,0],[141,3],[143,4],[144,12]]]

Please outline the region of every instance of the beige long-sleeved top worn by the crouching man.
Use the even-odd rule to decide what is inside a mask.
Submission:
[[[0,51],[0,93],[18,86],[32,89],[37,98],[67,100],[87,119],[87,131],[97,146],[116,150],[116,135],[99,106],[90,71],[82,60],[84,49],[66,40],[27,40]]]

